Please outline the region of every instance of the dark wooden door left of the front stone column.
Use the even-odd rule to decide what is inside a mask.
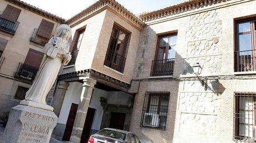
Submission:
[[[64,135],[63,135],[63,138],[62,138],[63,141],[69,141],[70,140],[73,125],[74,125],[74,122],[75,122],[75,119],[76,119],[77,108],[78,108],[78,104],[72,103],[71,108],[70,108],[70,113],[68,114],[68,118],[67,118],[66,129],[65,129],[65,132],[64,132]]]

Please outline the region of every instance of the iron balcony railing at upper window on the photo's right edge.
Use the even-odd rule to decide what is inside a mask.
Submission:
[[[256,70],[256,50],[235,52],[235,72],[250,72]]]

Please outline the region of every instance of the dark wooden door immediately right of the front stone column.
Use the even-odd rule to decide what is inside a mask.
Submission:
[[[87,114],[86,114],[86,119],[85,119],[85,125],[83,125],[83,132],[82,132],[80,143],[86,143],[90,137],[91,126],[92,126],[94,114],[95,114],[95,109],[88,108]]]

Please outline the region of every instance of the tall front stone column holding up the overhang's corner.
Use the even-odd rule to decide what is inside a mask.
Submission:
[[[87,77],[83,79],[83,89],[81,93],[81,100],[77,108],[76,119],[73,125],[72,134],[70,137],[71,142],[80,142],[83,131],[83,125],[85,124],[87,110],[90,104],[92,90],[96,80]]]

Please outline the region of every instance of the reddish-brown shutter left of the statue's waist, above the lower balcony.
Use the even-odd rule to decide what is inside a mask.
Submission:
[[[24,63],[39,68],[42,62],[42,58],[43,53],[38,52],[37,50],[29,49]]]

